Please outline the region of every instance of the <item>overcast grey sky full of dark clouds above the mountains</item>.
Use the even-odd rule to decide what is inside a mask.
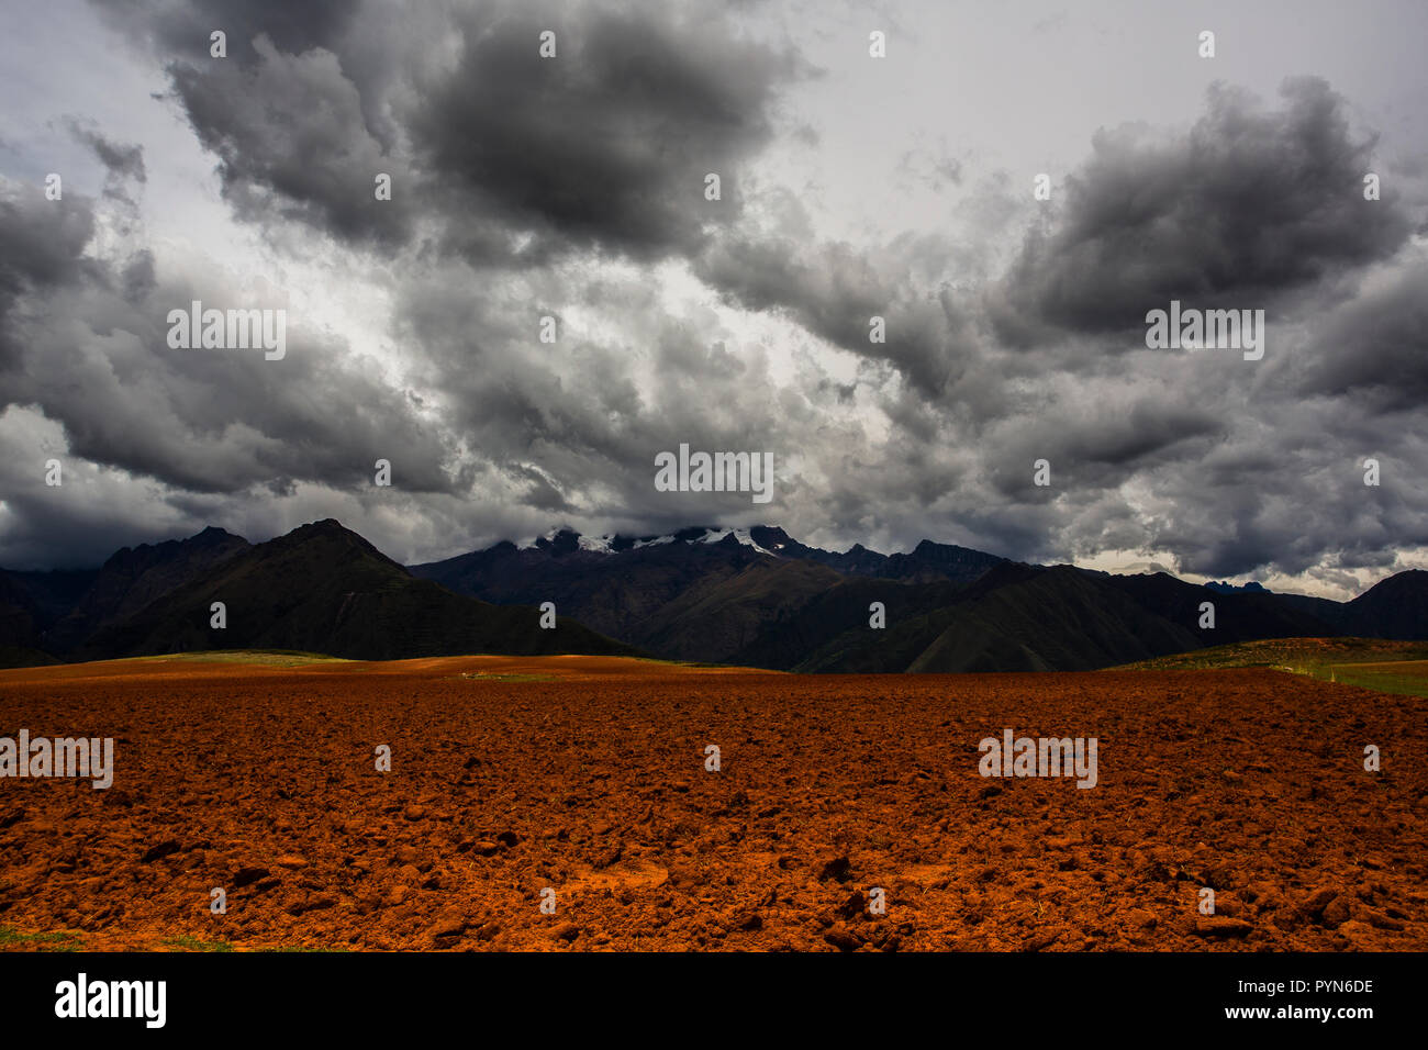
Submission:
[[[1357,594],[1428,566],[1424,40],[1421,0],[0,0],[0,564],[767,523]],[[286,357],[170,349],[194,299]],[[1147,349],[1174,299],[1264,310],[1264,359]],[[681,443],[773,453],[773,500],[657,491]]]

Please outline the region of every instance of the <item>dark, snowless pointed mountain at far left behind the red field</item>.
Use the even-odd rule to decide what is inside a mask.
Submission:
[[[221,601],[226,626],[211,626]],[[296,649],[360,660],[457,653],[637,653],[540,610],[417,579],[357,533],[316,521],[267,543],[204,529],[117,551],[90,573],[0,570],[0,661]]]

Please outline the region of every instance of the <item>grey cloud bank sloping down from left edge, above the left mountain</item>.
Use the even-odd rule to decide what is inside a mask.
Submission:
[[[378,457],[407,490],[450,489],[447,449],[376,366],[306,334],[296,313],[281,361],[170,349],[170,310],[194,299],[254,303],[211,281],[159,287],[146,251],[89,254],[94,227],[93,203],[79,194],[47,201],[23,187],[0,197],[0,323],[13,373],[0,409],[37,404],[63,424],[74,456],[196,491],[271,479],[358,487]]]

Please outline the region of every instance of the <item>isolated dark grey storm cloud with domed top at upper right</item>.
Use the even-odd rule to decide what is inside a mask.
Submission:
[[[990,297],[1001,336],[1144,329],[1171,299],[1268,309],[1392,256],[1412,223],[1392,193],[1364,200],[1375,140],[1354,137],[1324,80],[1288,80],[1281,94],[1282,109],[1265,110],[1215,86],[1188,134],[1098,133],[1064,207]]]

